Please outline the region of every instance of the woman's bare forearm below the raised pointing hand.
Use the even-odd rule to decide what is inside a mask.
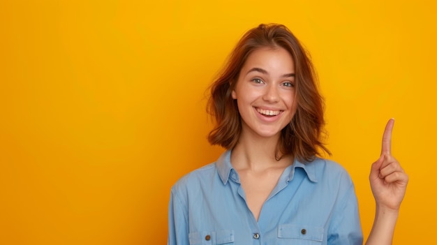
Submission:
[[[375,220],[366,245],[391,245],[399,209],[376,206]]]

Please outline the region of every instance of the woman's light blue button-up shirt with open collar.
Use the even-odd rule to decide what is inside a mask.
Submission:
[[[230,151],[172,187],[168,244],[362,244],[355,188],[322,158],[284,170],[258,222],[246,205]]]

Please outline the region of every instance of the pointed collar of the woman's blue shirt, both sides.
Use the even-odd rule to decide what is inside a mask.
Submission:
[[[229,178],[232,178],[234,181],[239,183],[237,172],[232,167],[232,164],[230,164],[230,152],[230,150],[223,152],[223,154],[221,154],[216,161],[218,175],[220,176],[221,181],[223,181],[223,184],[228,183]],[[293,176],[295,175],[296,168],[302,168],[306,172],[306,176],[311,182],[317,182],[315,162],[316,161],[302,163],[295,159],[293,164],[290,166],[291,168],[287,168],[286,170],[290,171],[288,181],[292,180]]]

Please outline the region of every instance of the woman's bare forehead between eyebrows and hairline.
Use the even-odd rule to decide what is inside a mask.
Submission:
[[[292,73],[295,70],[295,62],[290,52],[283,47],[261,47],[249,54],[241,71],[244,73],[251,68]]]

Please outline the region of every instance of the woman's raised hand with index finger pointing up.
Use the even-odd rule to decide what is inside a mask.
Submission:
[[[392,130],[394,119],[385,126],[381,155],[372,164],[369,176],[373,197],[378,207],[399,209],[408,184],[408,175],[392,156]]]

